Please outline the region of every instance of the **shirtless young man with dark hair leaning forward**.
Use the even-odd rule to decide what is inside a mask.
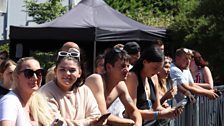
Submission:
[[[141,115],[124,82],[128,75],[129,55],[124,50],[112,49],[105,55],[104,67],[105,73],[92,74],[86,79],[86,85],[92,90],[101,113],[107,113],[107,109],[119,97],[125,107],[127,118],[111,114],[108,124],[140,126]]]

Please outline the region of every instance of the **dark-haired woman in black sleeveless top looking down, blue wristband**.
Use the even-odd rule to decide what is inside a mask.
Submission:
[[[153,81],[163,66],[164,54],[159,47],[146,48],[130,70],[126,84],[129,93],[136,103],[142,118],[143,125],[155,124],[158,119],[177,117],[183,108],[163,108],[158,95],[158,83]]]

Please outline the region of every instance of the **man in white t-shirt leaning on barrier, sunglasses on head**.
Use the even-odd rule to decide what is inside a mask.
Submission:
[[[208,90],[194,83],[189,70],[192,56],[192,50],[179,48],[176,50],[174,63],[171,64],[170,77],[178,87],[178,94],[176,95],[177,102],[182,100],[185,96],[187,96],[191,102],[195,102],[193,95],[207,96],[209,99],[218,98],[215,90]]]

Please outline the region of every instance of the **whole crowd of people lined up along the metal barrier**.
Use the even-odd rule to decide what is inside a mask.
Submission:
[[[43,77],[34,57],[16,63],[0,52],[0,126],[169,126],[183,99],[219,97],[198,51],[179,48],[172,59],[161,40],[144,50],[114,45],[88,76],[78,44],[66,42],[57,54]]]

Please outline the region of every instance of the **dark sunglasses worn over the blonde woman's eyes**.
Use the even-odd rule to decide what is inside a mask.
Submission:
[[[33,77],[34,73],[36,74],[36,76],[38,78],[41,78],[43,73],[44,73],[44,70],[43,69],[38,69],[36,71],[33,71],[31,69],[25,69],[25,70],[22,70],[20,72],[23,72],[24,76],[28,79],[30,79],[31,77]]]

